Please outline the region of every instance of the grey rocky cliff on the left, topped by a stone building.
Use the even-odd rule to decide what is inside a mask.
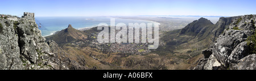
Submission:
[[[35,20],[11,17],[17,20],[0,18],[0,69],[88,69],[45,42]]]

